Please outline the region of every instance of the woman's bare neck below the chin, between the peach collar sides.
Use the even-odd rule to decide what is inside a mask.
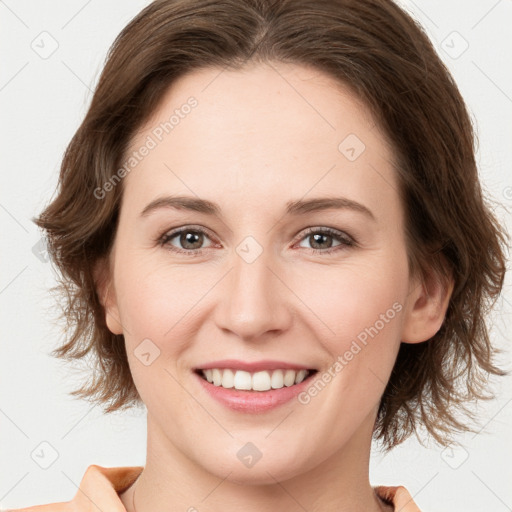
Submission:
[[[229,465],[223,469],[221,457],[215,473],[205,469],[201,460],[191,460],[164,436],[148,414],[144,471],[120,498],[127,512],[170,508],[191,512],[392,511],[393,507],[384,505],[369,483],[374,418],[367,419],[341,450],[306,471],[275,464],[265,467],[262,457],[250,469],[252,478],[244,480]]]

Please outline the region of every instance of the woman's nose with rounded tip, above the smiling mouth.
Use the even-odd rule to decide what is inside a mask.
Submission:
[[[284,272],[263,251],[254,261],[239,253],[219,289],[215,310],[217,326],[244,341],[275,338],[289,328],[293,318],[293,293]]]

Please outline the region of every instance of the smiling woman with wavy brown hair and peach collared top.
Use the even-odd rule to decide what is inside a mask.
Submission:
[[[505,374],[484,317],[505,233],[457,87],[391,1],[153,2],[37,223],[56,354],[97,361],[75,394],[143,403],[148,439],[144,467],[28,510],[414,512],[370,485],[372,438],[448,445]]]

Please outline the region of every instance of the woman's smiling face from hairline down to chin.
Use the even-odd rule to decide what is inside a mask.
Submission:
[[[263,483],[369,444],[401,340],[430,333],[413,323],[392,150],[364,105],[309,68],[205,69],[173,84],[133,151],[107,322],[125,336],[149,450]],[[275,366],[316,373],[219,398],[196,372],[261,361],[279,362],[271,385]]]

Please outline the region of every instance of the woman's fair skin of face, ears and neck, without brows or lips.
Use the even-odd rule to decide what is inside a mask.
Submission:
[[[368,476],[377,407],[400,342],[432,337],[451,293],[409,275],[393,151],[345,86],[281,63],[180,78],[130,151],[190,96],[198,106],[124,178],[115,243],[98,267],[108,327],[125,336],[148,411],[145,469],[121,500],[128,512],[134,489],[137,512],[391,510]],[[354,161],[338,150],[348,134],[365,144]],[[222,217],[172,208],[141,216],[171,194],[214,201]],[[351,209],[285,215],[288,201],[326,196],[357,201],[375,219]],[[179,236],[158,243],[191,225],[207,232],[195,245]],[[356,245],[329,235],[315,245],[308,227]],[[262,250],[252,263],[236,250],[247,236]],[[235,412],[192,373],[236,358],[322,375],[394,303],[401,311],[306,405]],[[149,366],[134,353],[147,338],[160,350]],[[262,453],[251,468],[237,457],[247,442]]]

